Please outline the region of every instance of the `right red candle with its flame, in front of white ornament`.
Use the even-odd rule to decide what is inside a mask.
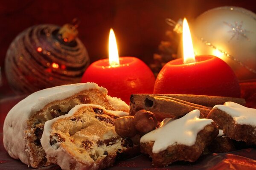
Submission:
[[[154,93],[240,97],[238,79],[227,63],[214,56],[193,56],[192,40],[186,24],[184,20],[184,61],[175,59],[164,65],[157,76]],[[187,31],[189,40],[186,39]]]

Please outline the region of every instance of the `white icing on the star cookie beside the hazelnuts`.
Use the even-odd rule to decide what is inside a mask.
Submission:
[[[213,122],[212,119],[199,119],[199,116],[200,111],[194,110],[180,119],[166,119],[166,124],[142,136],[140,142],[154,142],[153,153],[159,153],[174,144],[192,146],[198,132]]]

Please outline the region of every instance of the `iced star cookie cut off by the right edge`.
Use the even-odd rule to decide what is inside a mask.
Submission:
[[[227,137],[256,145],[256,109],[225,102],[215,105],[207,118],[213,119]]]

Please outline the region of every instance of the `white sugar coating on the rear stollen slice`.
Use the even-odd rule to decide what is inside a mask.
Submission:
[[[84,90],[98,89],[104,93],[108,90],[99,87],[96,83],[77,83],[71,85],[61,85],[37,91],[15,105],[7,114],[3,125],[3,144],[12,158],[20,159],[23,163],[29,164],[28,153],[25,151],[25,133],[27,120],[29,117],[43,109],[47,104],[56,100],[66,99]],[[111,99],[110,96],[107,96]],[[120,99],[111,99],[119,106],[129,109],[129,106]],[[122,113],[119,113],[122,114]]]

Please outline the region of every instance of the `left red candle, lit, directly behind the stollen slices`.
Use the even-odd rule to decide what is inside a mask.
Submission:
[[[110,52],[109,57],[117,54],[118,59],[117,48],[113,53]],[[143,61],[136,57],[119,57],[111,64],[110,60],[93,62],[84,72],[81,82],[95,82],[107,88],[110,96],[121,98],[127,104],[131,94],[153,93],[154,74]]]

